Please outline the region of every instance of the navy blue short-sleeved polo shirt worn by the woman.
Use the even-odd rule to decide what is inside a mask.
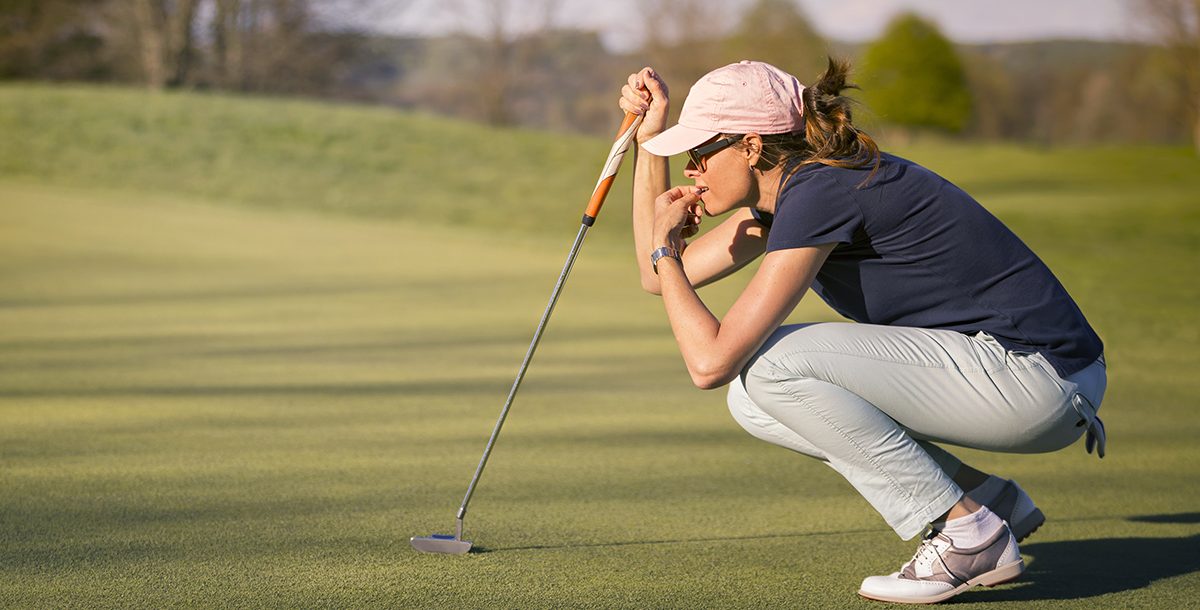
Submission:
[[[940,175],[894,155],[870,168],[802,167],[780,192],[767,251],[835,243],[812,291],[856,322],[988,333],[1067,377],[1100,339],[1050,269]]]

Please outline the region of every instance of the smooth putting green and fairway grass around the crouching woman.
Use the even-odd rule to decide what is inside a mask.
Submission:
[[[0,94],[7,108],[26,96]],[[160,103],[220,119],[222,104],[271,102],[164,97],[145,115],[169,115]],[[371,181],[376,166],[290,181],[329,145],[310,119],[362,132],[409,119],[281,108],[300,116],[287,134],[301,165],[272,157],[286,169],[239,167],[228,184],[186,137],[164,138],[174,163],[133,160],[126,174],[95,142],[70,152],[80,169],[52,163],[66,155],[55,145],[0,146],[0,606],[882,608],[858,584],[914,544],[832,470],[742,431],[724,391],[690,385],[634,271],[628,181],[472,501],[478,552],[413,551],[410,536],[452,530],[607,144],[522,133],[516,145],[548,156],[516,192],[470,198],[452,174],[430,175],[413,189],[445,185],[455,205],[487,209],[426,220],[334,209],[338,181],[353,201],[395,193]],[[0,127],[32,142],[17,114],[0,110]],[[1030,243],[1110,363],[1103,461],[1081,444],[956,451],[1018,479],[1048,522],[1021,546],[1022,579],[955,606],[1194,605],[1200,163],[1172,149],[899,152]],[[512,167],[479,171],[521,171],[497,163]],[[556,163],[588,178],[536,189]],[[187,179],[172,187],[176,169]],[[746,277],[702,294],[720,313]],[[835,316],[810,295],[792,319]]]

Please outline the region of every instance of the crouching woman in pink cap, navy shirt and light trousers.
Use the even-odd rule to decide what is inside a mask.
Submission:
[[[848,65],[812,86],[742,61],[701,78],[666,128],[667,86],[631,74],[643,115],[634,235],[642,286],[662,295],[700,388],[728,384],[751,435],[827,462],[904,539],[900,572],[859,594],[948,599],[1024,569],[1016,543],[1044,518],[1012,480],[934,442],[1057,450],[1103,425],[1099,337],[1050,270],[968,195],[881,154],[851,122]],[[670,187],[688,152],[694,186]],[[701,216],[728,219],[690,244]],[[766,255],[724,318],[695,288]],[[856,323],[781,325],[812,289]]]

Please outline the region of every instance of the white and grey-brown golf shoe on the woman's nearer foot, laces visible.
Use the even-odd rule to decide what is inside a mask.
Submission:
[[[959,549],[946,534],[930,532],[900,572],[866,578],[858,594],[899,604],[935,604],[976,585],[1008,582],[1024,570],[1025,561],[1007,525],[973,549]]]

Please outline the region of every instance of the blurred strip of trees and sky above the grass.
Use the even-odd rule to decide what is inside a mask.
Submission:
[[[306,96],[582,133],[653,65],[857,66],[892,132],[1200,150],[1200,2],[0,0],[0,79]],[[914,66],[920,66],[913,70]],[[678,107],[678,104],[677,104]]]

